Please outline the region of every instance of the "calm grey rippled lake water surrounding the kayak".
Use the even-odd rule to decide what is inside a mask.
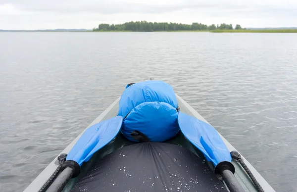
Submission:
[[[24,190],[128,83],[171,84],[297,189],[297,34],[0,33],[0,191]]]

